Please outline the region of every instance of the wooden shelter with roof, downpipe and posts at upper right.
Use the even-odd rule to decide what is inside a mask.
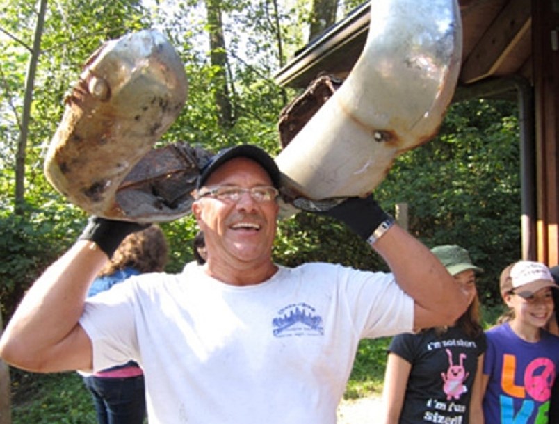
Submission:
[[[368,33],[371,0],[307,44],[275,74],[306,88],[319,72],[344,79]],[[418,0],[420,1],[420,0]],[[429,1],[429,0],[424,0]],[[519,101],[522,257],[559,263],[559,0],[457,0],[462,64],[453,101]]]

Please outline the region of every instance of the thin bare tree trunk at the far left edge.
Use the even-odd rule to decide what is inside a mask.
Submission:
[[[29,120],[31,117],[31,103],[33,102],[33,88],[35,85],[35,72],[41,54],[41,37],[44,27],[44,13],[47,10],[47,0],[40,0],[39,14],[35,26],[35,40],[33,40],[33,51],[27,68],[25,82],[25,96],[22,113],[22,122],[17,142],[17,154],[15,156],[15,213],[21,215],[25,203],[25,158],[27,149],[27,134],[29,132]]]

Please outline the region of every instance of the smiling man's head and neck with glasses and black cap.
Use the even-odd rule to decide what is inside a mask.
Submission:
[[[280,186],[275,162],[252,146],[227,149],[206,166],[197,186],[192,210],[206,235],[209,275],[239,286],[271,277]]]

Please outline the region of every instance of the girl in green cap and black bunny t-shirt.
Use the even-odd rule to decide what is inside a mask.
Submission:
[[[476,374],[483,364],[485,336],[476,272],[483,270],[458,245],[431,251],[454,284],[469,293],[469,307],[453,325],[394,336],[384,374],[384,424],[478,423],[482,414]]]

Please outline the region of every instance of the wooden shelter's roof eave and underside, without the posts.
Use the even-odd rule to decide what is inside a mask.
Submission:
[[[458,3],[463,38],[459,86],[512,74],[532,81],[530,0],[459,0]],[[369,2],[362,4],[300,49],[275,74],[277,83],[305,88],[318,72],[340,78],[347,76],[366,41],[369,6]]]

